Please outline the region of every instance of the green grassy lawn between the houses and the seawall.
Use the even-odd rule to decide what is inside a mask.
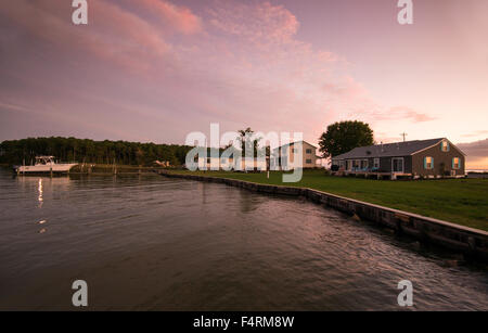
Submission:
[[[222,177],[288,187],[303,187],[420,214],[488,231],[488,179],[387,181],[325,176],[305,171],[300,182],[283,183],[282,172],[171,171]]]

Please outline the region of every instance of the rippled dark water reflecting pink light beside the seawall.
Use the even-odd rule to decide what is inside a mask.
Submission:
[[[160,176],[0,170],[0,309],[488,309],[488,274],[307,201]]]

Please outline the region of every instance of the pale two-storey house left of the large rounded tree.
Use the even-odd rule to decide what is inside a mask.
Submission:
[[[306,141],[284,144],[272,151],[270,168],[271,170],[292,170],[295,167],[317,168],[319,167],[317,161],[322,157],[317,156],[316,151],[317,146]]]

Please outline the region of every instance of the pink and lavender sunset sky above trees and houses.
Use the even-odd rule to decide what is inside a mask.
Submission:
[[[488,168],[488,1],[88,0],[0,7],[0,141],[184,143],[192,131],[367,121],[448,138]]]

